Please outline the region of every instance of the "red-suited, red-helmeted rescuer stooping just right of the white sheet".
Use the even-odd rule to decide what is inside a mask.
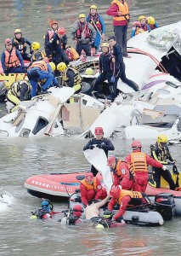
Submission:
[[[122,189],[132,190],[136,183],[136,175],[125,160],[118,160],[115,156],[108,158],[108,166],[113,171],[113,185],[121,185]]]

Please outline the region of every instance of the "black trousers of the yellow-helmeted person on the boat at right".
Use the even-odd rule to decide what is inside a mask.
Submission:
[[[173,177],[169,171],[163,171],[162,168],[153,167],[153,174],[154,180],[156,181],[156,188],[161,187],[161,176],[167,181],[170,186],[170,189],[175,190],[176,185],[173,182]]]

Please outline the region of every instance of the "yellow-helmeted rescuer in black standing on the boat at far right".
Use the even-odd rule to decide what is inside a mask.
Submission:
[[[170,154],[169,148],[167,147],[167,136],[165,134],[160,134],[156,139],[155,145],[150,145],[150,155],[155,160],[159,161],[163,165],[175,165],[177,162],[173,159],[173,156]],[[153,167],[153,177],[156,181],[156,188],[161,187],[161,176],[167,181],[170,186],[170,189],[175,190],[176,185],[173,181],[173,177],[169,170],[163,171],[159,167]],[[178,174],[177,172],[174,174]]]

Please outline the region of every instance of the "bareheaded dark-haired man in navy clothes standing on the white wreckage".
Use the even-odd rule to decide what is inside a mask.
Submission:
[[[116,85],[119,79],[122,79],[122,82],[132,87],[133,90],[139,91],[138,84],[135,84],[132,80],[127,79],[125,73],[125,64],[122,58],[122,48],[120,44],[116,42],[115,36],[110,36],[108,38],[111,54],[115,56],[115,68],[116,68]]]

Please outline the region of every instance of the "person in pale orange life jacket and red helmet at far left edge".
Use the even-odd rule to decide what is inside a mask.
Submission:
[[[5,39],[4,45],[6,49],[1,55],[3,73],[24,73],[25,66],[20,51],[13,48],[10,38]]]

